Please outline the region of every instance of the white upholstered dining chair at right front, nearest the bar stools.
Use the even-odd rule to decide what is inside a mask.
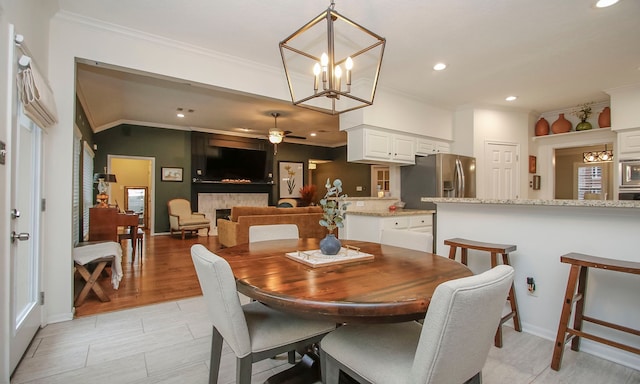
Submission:
[[[513,281],[513,268],[440,284],[424,325],[346,325],[320,342],[322,382],[340,371],[360,383],[480,383]]]

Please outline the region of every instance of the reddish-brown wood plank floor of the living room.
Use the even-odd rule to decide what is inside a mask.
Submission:
[[[179,236],[149,236],[146,232],[140,265],[138,260],[131,264],[129,241],[122,244],[124,276],[120,287],[115,290],[108,278],[102,279],[101,287],[111,301],[101,302],[92,291],[85,302],[76,307],[76,317],[199,296],[202,292],[191,261],[191,246],[203,244],[211,251],[220,248],[218,236],[191,236],[182,240]],[[76,293],[82,284],[77,277]]]

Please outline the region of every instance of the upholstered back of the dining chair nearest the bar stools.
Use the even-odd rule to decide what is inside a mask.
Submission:
[[[482,371],[513,275],[498,265],[436,288],[411,371],[415,383],[463,383]]]

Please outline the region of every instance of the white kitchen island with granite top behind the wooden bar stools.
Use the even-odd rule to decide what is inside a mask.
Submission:
[[[447,255],[444,240],[472,240],[515,244],[511,253],[522,327],[555,340],[569,265],[560,256],[579,252],[604,258],[640,261],[640,202],[611,200],[496,200],[422,198],[436,203],[436,253]],[[489,268],[486,253],[469,251],[469,267]],[[527,277],[536,290],[527,290]],[[636,275],[592,270],[589,272],[586,313],[634,328],[640,324],[640,279]],[[509,325],[506,323],[505,325]],[[636,348],[640,338],[586,323],[585,331],[600,333]],[[581,352],[592,353],[634,369],[640,356],[589,340]],[[565,356],[569,353],[567,352]],[[551,362],[551,348],[549,349]]]

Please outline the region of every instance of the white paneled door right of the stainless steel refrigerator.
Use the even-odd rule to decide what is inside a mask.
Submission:
[[[487,198],[517,199],[518,146],[516,144],[486,143]]]

